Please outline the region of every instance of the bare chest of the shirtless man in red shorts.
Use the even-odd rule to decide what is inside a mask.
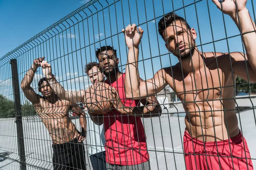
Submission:
[[[201,69],[175,79],[174,87],[178,98],[183,102],[199,102],[219,99],[225,84],[225,74],[221,69]]]

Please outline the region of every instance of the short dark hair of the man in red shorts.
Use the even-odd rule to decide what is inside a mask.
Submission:
[[[163,37],[163,31],[166,30],[167,27],[171,26],[174,21],[179,20],[181,23],[186,24],[186,27],[188,30],[191,30],[191,27],[186,22],[186,20],[183,17],[178,16],[175,12],[170,12],[169,14],[166,14],[161,18],[161,20],[158,23],[158,32]]]

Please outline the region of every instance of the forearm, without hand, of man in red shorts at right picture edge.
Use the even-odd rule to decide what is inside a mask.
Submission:
[[[253,71],[256,71],[256,27],[247,9],[233,14],[234,20],[241,31],[248,61]]]

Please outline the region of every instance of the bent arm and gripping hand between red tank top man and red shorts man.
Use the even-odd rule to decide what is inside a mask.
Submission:
[[[129,25],[125,30],[122,30],[125,34],[125,42],[129,49],[125,71],[125,95],[127,98],[132,99],[153,96],[166,86],[166,81],[164,79],[165,71],[163,69],[157,71],[152,79],[140,82],[138,58],[143,29],[139,27],[139,31],[140,33],[135,24],[132,26]]]

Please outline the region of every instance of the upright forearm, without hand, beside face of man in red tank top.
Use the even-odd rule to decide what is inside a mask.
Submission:
[[[140,74],[138,71],[139,49],[130,48],[128,51],[127,66],[125,71],[125,94],[127,98],[140,97]]]

